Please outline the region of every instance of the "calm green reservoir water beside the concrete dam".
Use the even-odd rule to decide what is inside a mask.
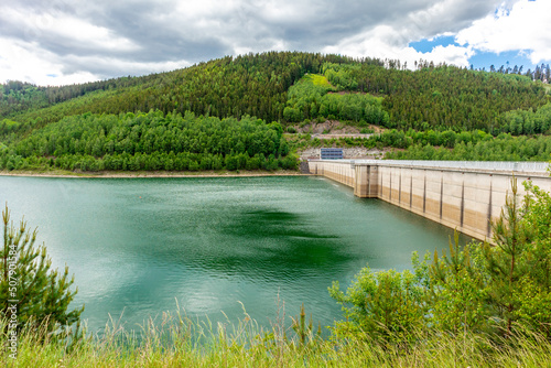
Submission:
[[[411,267],[414,250],[447,247],[452,230],[317,177],[44,178],[0,176],[0,203],[39,226],[55,267],[75,273],[75,305],[100,331],[109,316],[139,329],[174,312],[262,326],[301,303],[341,318],[328,296],[372,269]],[[121,316],[122,314],[122,316]],[[289,320],[289,317],[288,317]]]

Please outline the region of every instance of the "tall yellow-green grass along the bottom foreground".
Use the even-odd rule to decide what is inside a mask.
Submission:
[[[517,332],[507,339],[465,332],[421,331],[397,344],[366,336],[328,339],[306,336],[278,317],[262,329],[247,314],[237,324],[192,321],[164,313],[139,333],[111,322],[101,336],[53,338],[44,331],[22,331],[18,357],[2,351],[3,367],[551,367],[551,344],[543,336]],[[0,321],[6,331],[6,321]],[[301,332],[303,334],[304,331]],[[300,336],[300,337],[299,337]],[[0,336],[2,345],[7,335]]]

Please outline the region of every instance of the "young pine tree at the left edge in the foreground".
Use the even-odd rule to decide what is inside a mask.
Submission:
[[[8,206],[2,212],[3,248],[0,251],[0,318],[13,322],[17,331],[45,329],[56,333],[60,328],[79,323],[84,311],[68,311],[77,290],[71,291],[74,277],[68,268],[63,272],[52,270],[52,260],[44,246],[35,246],[36,230],[30,231],[25,221],[19,228],[10,221]],[[10,327],[12,329],[12,327]]]

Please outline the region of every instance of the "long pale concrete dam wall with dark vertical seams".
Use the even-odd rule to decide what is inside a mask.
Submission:
[[[309,162],[310,173],[348,185],[358,197],[386,201],[480,240],[490,239],[490,221],[499,217],[514,175],[521,196],[527,180],[551,192],[548,166],[545,162]]]

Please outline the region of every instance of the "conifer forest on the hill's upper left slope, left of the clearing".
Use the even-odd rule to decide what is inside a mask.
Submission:
[[[318,73],[325,62],[352,62],[337,55],[268,52],[201,63],[188,68],[142,77],[123,77],[65,87],[30,87],[41,90],[40,104],[0,108],[26,132],[66,116],[85,112],[126,113],[161,110],[218,118],[245,115],[267,121],[281,120],[287,91],[305,73]],[[4,86],[6,88],[6,86]],[[1,100],[1,96],[0,96]],[[17,104],[6,97],[7,104]],[[6,112],[4,112],[6,111]],[[19,113],[15,113],[18,112]],[[0,139],[6,132],[0,130]]]

